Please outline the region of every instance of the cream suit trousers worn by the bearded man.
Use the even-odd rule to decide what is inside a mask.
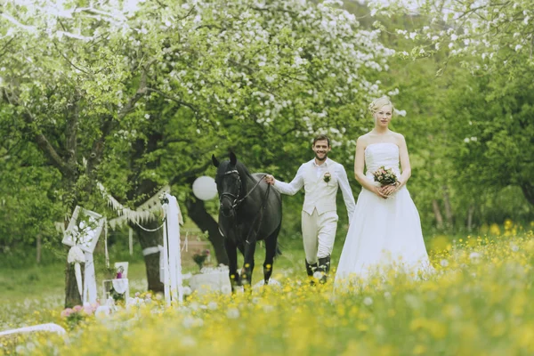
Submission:
[[[313,214],[303,211],[303,244],[308,263],[317,263],[318,258],[332,254],[336,239],[337,220],[336,211],[323,214],[318,214],[317,209],[313,209]]]

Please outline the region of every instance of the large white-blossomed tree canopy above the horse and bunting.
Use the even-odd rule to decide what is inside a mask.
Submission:
[[[97,181],[138,202],[165,182],[187,189],[237,145],[307,146],[326,130],[353,144],[392,51],[336,4],[5,1],[0,119],[61,173],[67,214],[102,204]],[[287,168],[294,148],[267,159]],[[74,287],[68,272],[68,305]]]

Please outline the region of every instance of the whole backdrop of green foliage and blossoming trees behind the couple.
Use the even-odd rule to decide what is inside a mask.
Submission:
[[[111,216],[96,182],[130,207],[170,182],[182,203],[195,177],[214,175],[211,155],[229,150],[251,171],[289,181],[312,158],[315,134],[331,136],[330,157],[358,192],[355,141],[382,93],[407,113],[392,129],[407,138],[425,229],[436,225],[435,206],[445,214],[449,205],[457,226],[469,214],[479,225],[534,214],[508,188],[528,198],[533,176],[525,1],[464,9],[471,19],[500,6],[480,31],[467,20],[442,30],[443,16],[428,26],[441,13],[430,4],[413,15],[329,1],[126,3],[3,7],[0,246],[58,239],[53,222],[77,204]],[[514,48],[481,52],[485,41]],[[474,69],[492,75],[471,78]],[[498,214],[503,191],[511,198]],[[284,198],[286,239],[299,238],[301,205],[302,196]],[[206,206],[216,212],[216,202]]]

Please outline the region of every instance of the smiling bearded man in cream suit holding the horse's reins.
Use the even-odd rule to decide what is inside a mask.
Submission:
[[[292,182],[280,182],[270,174],[265,181],[280,193],[295,195],[304,187],[302,228],[306,272],[313,280],[314,273],[320,272],[320,282],[325,283],[330,270],[330,255],[334,247],[337,230],[336,193],[341,188],[349,222],[354,213],[354,197],[344,166],[328,158],[331,150],[330,139],[321,134],[313,139],[312,150],[315,158],[304,163],[296,172]]]

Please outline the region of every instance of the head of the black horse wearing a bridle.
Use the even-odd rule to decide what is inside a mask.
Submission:
[[[237,169],[238,158],[231,152],[230,160],[219,162],[212,155],[212,162],[217,167],[215,174],[215,183],[219,192],[219,202],[221,203],[221,212],[223,216],[230,217],[236,214],[235,207],[239,199],[241,190],[241,179]]]

